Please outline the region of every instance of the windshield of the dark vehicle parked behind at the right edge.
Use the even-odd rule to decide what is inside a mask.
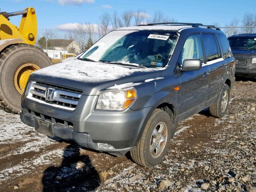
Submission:
[[[229,38],[231,48],[235,49],[256,49],[256,38],[238,37]]]

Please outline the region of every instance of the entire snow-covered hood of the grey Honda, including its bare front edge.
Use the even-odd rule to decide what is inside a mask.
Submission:
[[[35,71],[29,80],[83,90],[86,95],[98,95],[102,90],[113,86],[114,88],[132,87],[144,83],[145,80],[161,77],[161,71],[152,68],[72,60]]]

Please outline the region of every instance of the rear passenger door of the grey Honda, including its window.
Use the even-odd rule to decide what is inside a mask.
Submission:
[[[212,104],[220,94],[226,74],[226,62],[221,56],[220,46],[214,34],[202,34],[205,51],[205,65],[210,69],[208,103]]]

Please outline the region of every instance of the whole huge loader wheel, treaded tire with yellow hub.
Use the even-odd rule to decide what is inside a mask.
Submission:
[[[52,65],[51,58],[40,48],[15,44],[0,54],[0,108],[17,114],[28,77],[36,70]]]

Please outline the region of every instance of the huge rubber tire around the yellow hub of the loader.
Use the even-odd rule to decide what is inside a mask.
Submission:
[[[18,114],[21,94],[14,86],[16,69],[24,63],[34,63],[40,68],[52,65],[51,58],[42,49],[29,44],[8,46],[0,54],[0,108]]]

